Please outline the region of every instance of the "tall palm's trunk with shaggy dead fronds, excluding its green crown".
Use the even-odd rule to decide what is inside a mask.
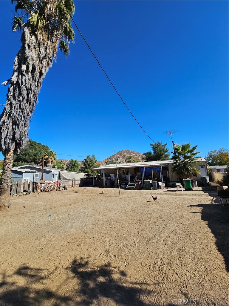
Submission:
[[[0,116],[0,151],[5,159],[0,182],[0,206],[9,207],[9,187],[14,152],[28,145],[29,119],[38,102],[41,83],[53,57],[57,43],[51,43],[42,33],[31,34],[24,26],[22,47],[16,55],[13,75],[10,78],[6,105]]]

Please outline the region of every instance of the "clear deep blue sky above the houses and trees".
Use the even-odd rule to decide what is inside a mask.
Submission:
[[[0,12],[2,83],[20,32],[11,31],[10,1],[0,1]],[[198,144],[202,157],[228,148],[227,1],[75,1],[74,20],[151,139],[170,148],[161,133],[174,129],[174,142]],[[0,90],[4,104],[7,88]],[[151,149],[76,29],[70,56],[58,52],[38,100],[29,136],[58,159]]]

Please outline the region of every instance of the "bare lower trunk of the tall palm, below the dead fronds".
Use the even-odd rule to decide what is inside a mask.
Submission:
[[[14,151],[6,149],[3,162],[2,177],[0,180],[0,210],[7,209],[10,206],[9,188],[13,165]]]

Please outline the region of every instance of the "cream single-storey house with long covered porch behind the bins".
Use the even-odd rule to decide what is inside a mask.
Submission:
[[[123,163],[123,164],[112,164],[107,166],[100,166],[94,170],[100,170],[101,178],[105,184],[108,177],[114,176],[114,183],[116,185],[117,178],[117,169],[119,181],[133,181],[137,176],[138,179],[144,181],[146,179],[152,179],[153,181],[158,182],[167,182],[167,185],[175,185],[169,182],[178,181],[176,174],[172,172],[173,160],[162,160],[156,162],[132,162],[132,163]],[[207,162],[204,158],[199,158],[198,163],[195,164],[195,167],[200,170],[201,174],[196,172],[193,173],[193,180],[202,181],[201,177],[208,176],[207,173]],[[95,181],[93,181],[93,185]],[[176,185],[175,185],[176,186]]]

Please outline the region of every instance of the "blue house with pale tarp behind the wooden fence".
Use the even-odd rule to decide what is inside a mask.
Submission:
[[[44,181],[72,180],[83,178],[87,173],[71,172],[57,168],[44,167]],[[12,168],[13,181],[41,181],[42,166],[24,165]]]

